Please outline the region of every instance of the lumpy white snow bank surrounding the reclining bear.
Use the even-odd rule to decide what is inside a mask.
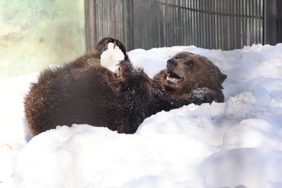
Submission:
[[[0,80],[0,187],[282,187],[282,44],[129,57],[152,78],[181,51],[228,75],[225,103],[159,112],[132,135],[74,124],[31,139],[22,101],[38,72]]]

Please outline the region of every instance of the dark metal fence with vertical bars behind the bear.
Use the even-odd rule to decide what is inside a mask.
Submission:
[[[176,45],[233,50],[278,43],[281,4],[280,0],[85,0],[87,50],[105,36],[122,39],[128,50]]]

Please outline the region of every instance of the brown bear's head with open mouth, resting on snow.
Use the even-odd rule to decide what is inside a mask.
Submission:
[[[222,83],[227,78],[207,57],[190,52],[173,56],[167,61],[166,70],[159,74],[154,78],[159,85],[182,94],[197,88],[223,89]]]

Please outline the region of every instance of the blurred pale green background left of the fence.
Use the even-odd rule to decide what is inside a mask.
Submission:
[[[85,52],[83,0],[0,0],[0,79]]]

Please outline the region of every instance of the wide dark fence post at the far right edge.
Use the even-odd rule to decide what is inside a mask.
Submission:
[[[265,25],[264,36],[265,44],[276,45],[279,41],[279,28],[278,28],[278,1],[267,0],[265,1]]]

